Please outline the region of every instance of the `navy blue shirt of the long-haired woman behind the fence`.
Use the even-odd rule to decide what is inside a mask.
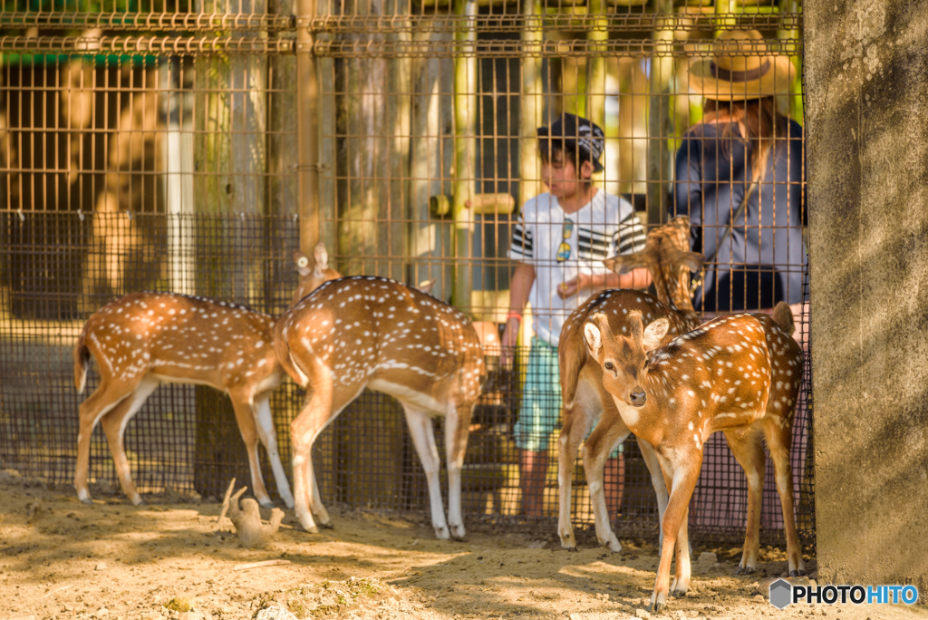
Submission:
[[[767,174],[727,239],[728,223],[751,185],[753,144],[741,139],[737,125],[723,138],[723,127],[693,126],[677,151],[671,215],[690,216],[694,252],[708,257],[718,248],[693,304],[697,310],[725,312],[801,302],[808,260],[802,236],[803,129],[789,121],[788,136],[775,141]]]

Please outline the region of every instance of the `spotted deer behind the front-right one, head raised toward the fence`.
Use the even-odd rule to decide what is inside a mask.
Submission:
[[[689,218],[678,217],[670,224],[652,230],[641,252],[616,256],[604,263],[615,271],[630,271],[639,266],[648,266],[651,273],[656,274],[653,279],[658,296],[663,292],[666,299],[667,293],[664,290],[671,283],[688,286],[690,271],[696,271],[702,265],[701,254],[687,251],[689,238]],[[659,265],[666,266],[662,269]],[[586,355],[583,326],[587,317],[601,313],[609,317],[613,330],[627,333],[628,313],[632,311],[638,311],[649,320],[666,316],[670,321],[670,329],[666,336],[668,342],[675,335],[686,333],[699,324],[692,304],[675,306],[655,299],[646,292],[627,289],[602,291],[567,317],[561,331],[561,341],[558,343],[561,397],[564,407],[564,424],[558,439],[558,535],[561,536],[561,546],[565,549],[576,548],[574,526],[571,523],[571,480],[577,446],[596,420],[602,417],[603,420],[617,420],[617,423],[598,424],[593,434],[586,439],[583,448],[584,471],[589,485],[590,503],[596,520],[599,543],[613,551],[622,550],[609,520],[603,488],[603,469],[609,454],[615,446],[625,441],[629,431],[615,413],[612,398],[602,387],[602,368],[595,359]],[[603,416],[606,410],[610,411],[610,415]],[[654,456],[653,448],[643,441],[638,442],[638,446],[641,448],[645,464],[651,471],[651,484],[657,495],[658,515],[663,519],[667,506],[664,475],[661,473],[657,457]]]

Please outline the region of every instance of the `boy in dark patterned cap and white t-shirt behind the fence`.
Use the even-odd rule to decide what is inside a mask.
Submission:
[[[513,228],[509,258],[518,261],[510,286],[509,316],[503,331],[503,363],[515,346],[522,310],[532,302],[535,336],[529,353],[522,407],[515,440],[520,449],[522,510],[543,515],[548,436],[561,410],[558,340],[564,320],[591,294],[603,289],[643,288],[651,283],[647,269],[619,276],[602,260],[644,248],[645,229],[631,204],[593,187],[591,176],[602,170],[602,130],[574,114],[562,114],[550,127],[539,127],[542,180],[548,193],[522,205]],[[542,394],[548,396],[542,398]],[[554,397],[551,397],[554,394]],[[621,450],[621,446],[620,446]],[[613,455],[614,457],[614,455]],[[622,503],[621,453],[606,463],[611,511]]]

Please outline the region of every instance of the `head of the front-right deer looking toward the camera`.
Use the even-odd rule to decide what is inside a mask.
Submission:
[[[591,316],[583,326],[586,348],[602,366],[606,391],[633,407],[644,407],[648,396],[641,386],[648,376],[647,354],[661,346],[670,322],[658,318],[645,329],[641,313],[633,310],[628,313],[626,327],[627,335],[615,335],[605,315]]]

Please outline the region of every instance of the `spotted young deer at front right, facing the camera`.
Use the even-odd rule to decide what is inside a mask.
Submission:
[[[613,333],[609,319],[589,317],[584,335],[590,355],[603,368],[603,386],[612,394],[619,420],[654,446],[670,501],[664,512],[664,540],[651,607],[662,609],[668,589],[675,595],[690,587],[686,520],[690,497],[702,467],[702,446],[716,431],[748,479],[747,531],[739,573],[753,573],[760,547],[761,492],[767,439],[777,475],[777,491],[786,528],[790,575],[805,574],[793,515],[793,472],[790,444],[793,407],[799,394],[802,350],[793,340],[793,314],[777,305],[774,316],[721,316],[661,347],[670,327],[658,318],[644,328],[631,312],[627,333]],[[670,563],[677,543],[677,571],[669,585]]]

